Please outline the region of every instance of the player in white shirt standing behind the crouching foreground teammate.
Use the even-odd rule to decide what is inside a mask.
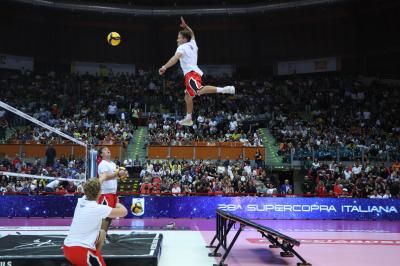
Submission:
[[[118,201],[117,178],[125,173],[124,170],[118,171],[117,165],[111,161],[111,152],[107,147],[100,148],[98,155],[101,158],[101,161],[97,167],[97,173],[101,183],[101,195],[98,203],[115,208],[115,205]],[[111,218],[105,218],[101,228],[107,232],[111,221]]]

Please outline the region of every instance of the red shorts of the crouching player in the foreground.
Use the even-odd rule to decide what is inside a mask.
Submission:
[[[103,257],[98,250],[80,246],[64,246],[64,256],[74,266],[105,266]]]

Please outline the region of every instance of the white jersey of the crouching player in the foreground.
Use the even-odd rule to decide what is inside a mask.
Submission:
[[[87,200],[86,196],[79,198],[64,245],[96,249],[96,240],[100,233],[101,221],[108,217],[111,211],[111,207],[100,205],[93,200]]]

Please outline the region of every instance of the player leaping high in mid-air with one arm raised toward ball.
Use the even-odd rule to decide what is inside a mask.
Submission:
[[[178,33],[178,48],[176,49],[175,55],[168,60],[159,70],[159,74],[163,75],[165,71],[175,65],[178,60],[185,75],[185,102],[186,102],[186,117],[179,121],[181,125],[192,126],[192,112],[193,112],[193,98],[202,94],[208,93],[228,93],[235,94],[234,86],[215,87],[215,86],[203,86],[201,84],[201,76],[203,72],[197,66],[197,52],[198,47],[194,37],[193,30],[186,25],[185,21],[181,17],[181,27],[184,29]]]

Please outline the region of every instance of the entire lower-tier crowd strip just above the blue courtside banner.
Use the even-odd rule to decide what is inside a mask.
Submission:
[[[0,161],[1,193],[60,193],[82,192],[80,183],[85,178],[84,162],[64,155],[54,162],[36,159],[27,162],[16,156],[7,156]],[[140,173],[142,194],[173,195],[258,195],[294,196],[293,180],[279,180],[277,175],[267,172],[262,164],[243,161],[180,161],[148,160],[144,164],[136,160],[117,165],[137,167]],[[387,167],[382,164],[354,165],[332,161],[324,164],[318,160],[307,160],[307,171],[298,196],[354,197],[354,198],[400,198],[400,163]],[[16,178],[1,172],[54,176],[70,181]],[[133,178],[131,176],[130,178]],[[133,191],[131,191],[133,192]]]

